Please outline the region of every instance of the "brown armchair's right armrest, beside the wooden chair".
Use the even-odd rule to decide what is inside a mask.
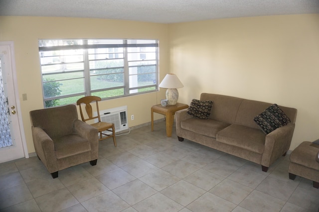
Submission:
[[[73,123],[73,130],[75,133],[81,135],[82,137],[90,141],[91,160],[98,159],[98,152],[99,152],[98,129],[88,123],[85,123],[77,119]]]

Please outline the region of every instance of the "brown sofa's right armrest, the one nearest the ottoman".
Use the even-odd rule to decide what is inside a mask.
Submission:
[[[266,135],[261,165],[269,167],[275,160],[286,154],[293,138],[295,124],[279,127]]]

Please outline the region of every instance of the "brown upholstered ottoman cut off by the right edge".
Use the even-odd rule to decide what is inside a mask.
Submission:
[[[296,176],[314,181],[314,187],[319,188],[319,162],[316,157],[319,145],[310,141],[302,142],[290,155],[289,179]]]

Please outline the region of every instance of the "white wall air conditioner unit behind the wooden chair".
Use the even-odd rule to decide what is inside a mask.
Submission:
[[[115,132],[129,129],[127,114],[128,106],[100,110],[101,121],[114,123]],[[97,115],[97,112],[95,112],[95,115]],[[98,122],[98,119],[95,119],[95,122]],[[104,131],[104,133],[110,134],[109,131]]]

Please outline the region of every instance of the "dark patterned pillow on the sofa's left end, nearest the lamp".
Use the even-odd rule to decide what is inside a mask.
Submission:
[[[192,100],[187,109],[187,113],[196,118],[208,119],[212,106],[212,101]]]

